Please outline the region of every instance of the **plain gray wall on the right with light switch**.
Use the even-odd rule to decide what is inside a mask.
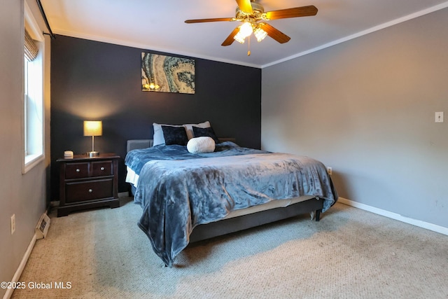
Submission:
[[[341,197],[448,228],[448,9],[262,69],[261,136]]]

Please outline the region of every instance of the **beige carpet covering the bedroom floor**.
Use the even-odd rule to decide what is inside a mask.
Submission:
[[[51,215],[13,298],[448,298],[448,236],[344,204],[318,223],[304,215],[190,245],[167,268],[137,227],[141,208],[122,201]]]

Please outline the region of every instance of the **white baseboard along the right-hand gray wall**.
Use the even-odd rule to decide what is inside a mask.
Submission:
[[[448,228],[445,228],[445,227],[440,226],[440,225],[435,225],[433,223],[428,223],[428,222],[425,222],[425,221],[420,221],[420,220],[416,220],[416,219],[413,219],[413,218],[408,218],[408,217],[405,217],[405,216],[401,216],[400,214],[396,214],[396,213],[393,213],[391,211],[386,211],[384,209],[378,209],[376,207],[371,207],[371,206],[369,206],[367,204],[361,204],[359,202],[353,202],[353,200],[347,200],[344,197],[339,197],[337,202],[340,202],[342,204],[346,204],[346,205],[351,206],[351,207],[356,207],[358,209],[363,209],[365,211],[370,211],[370,212],[372,212],[374,214],[385,216],[387,218],[392,218],[392,219],[395,219],[395,220],[398,220],[398,221],[401,221],[401,222],[404,222],[404,223],[409,223],[409,224],[418,226],[419,228],[426,228],[426,230],[432,230],[433,232],[439,232],[439,233],[441,233],[443,235],[448,235]]]

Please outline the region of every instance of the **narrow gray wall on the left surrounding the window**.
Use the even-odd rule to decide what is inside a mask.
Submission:
[[[42,22],[37,18],[40,15],[36,1],[29,1],[29,6],[37,12],[36,20]],[[50,162],[50,112],[47,106],[46,159],[27,174],[22,174],[23,9],[23,0],[2,1],[0,9],[0,281],[13,278],[34,235],[34,227],[45,211]],[[47,64],[49,62],[48,55]],[[48,94],[49,89],[45,90]],[[14,235],[10,234],[12,214],[16,221]],[[1,297],[4,293],[6,290],[0,288]]]

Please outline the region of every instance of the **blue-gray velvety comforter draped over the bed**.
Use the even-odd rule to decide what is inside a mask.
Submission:
[[[139,174],[134,202],[143,214],[138,225],[169,266],[196,225],[218,221],[230,211],[302,195],[321,197],[325,211],[337,200],[321,162],[230,141],[206,154],[190,154],[186,146],[134,150],[125,164]]]

